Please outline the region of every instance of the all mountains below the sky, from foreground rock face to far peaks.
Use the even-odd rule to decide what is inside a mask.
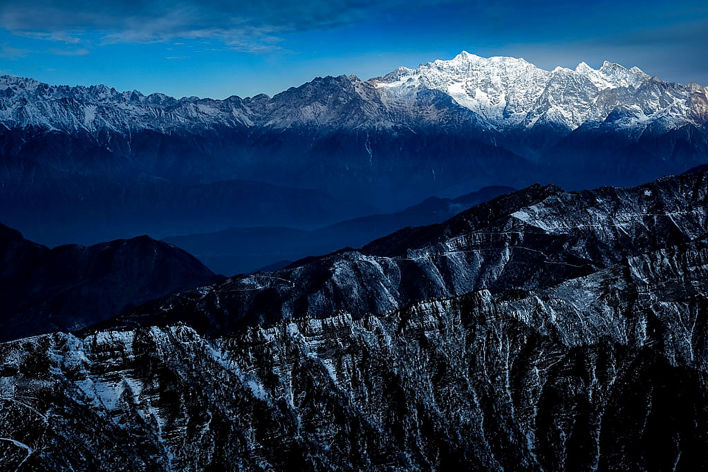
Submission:
[[[0,469],[706,469],[707,163],[610,62],[2,76]]]

